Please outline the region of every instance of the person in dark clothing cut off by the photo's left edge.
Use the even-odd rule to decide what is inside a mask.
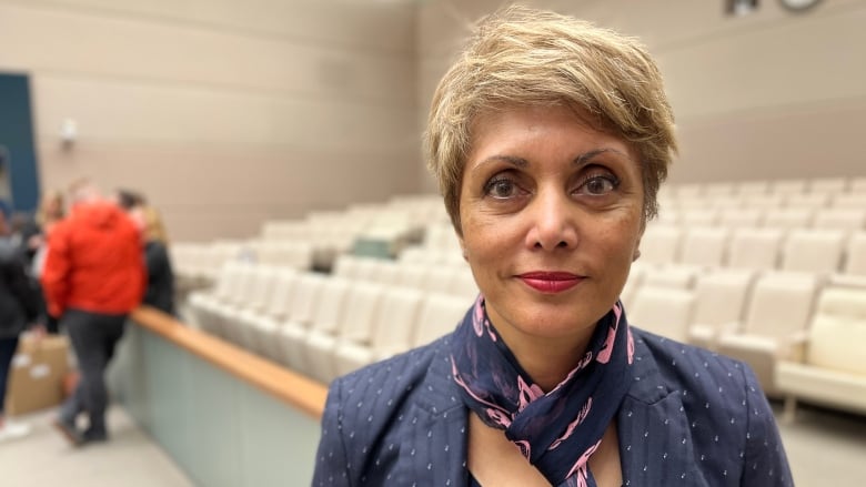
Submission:
[[[7,213],[0,212],[0,443],[29,433],[23,424],[6,422],[3,404],[12,356],[21,332],[39,313],[37,290],[24,271],[20,246],[8,235]]]

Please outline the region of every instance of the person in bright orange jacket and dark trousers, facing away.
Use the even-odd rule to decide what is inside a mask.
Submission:
[[[74,444],[108,439],[104,372],[127,315],[144,294],[141,231],[88,180],[70,186],[71,212],[48,239],[40,282],[48,312],[66,328],[80,379],[54,425]],[[89,427],[79,429],[87,416]]]

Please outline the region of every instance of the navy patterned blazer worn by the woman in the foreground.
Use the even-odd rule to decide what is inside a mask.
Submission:
[[[793,485],[773,412],[745,364],[632,327],[616,416],[625,486]],[[313,486],[467,486],[467,410],[449,341],[331,384]]]

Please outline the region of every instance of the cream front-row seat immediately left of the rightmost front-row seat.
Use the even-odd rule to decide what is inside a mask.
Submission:
[[[772,272],[757,278],[736,332],[719,335],[716,349],[749,364],[768,396],[777,397],[778,361],[789,356],[788,339],[806,329],[819,280],[809,273]]]

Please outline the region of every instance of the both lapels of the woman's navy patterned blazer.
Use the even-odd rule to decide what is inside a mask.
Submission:
[[[415,459],[407,466],[406,478],[432,480],[419,485],[465,486],[469,481],[467,409],[451,376],[449,343],[450,335],[434,345],[426,381],[419,385],[424,389],[419,390],[414,405],[417,424],[411,442]],[[658,485],[664,479],[666,484],[707,486],[697,469],[683,392],[668,388],[640,334],[635,334],[631,376],[632,387],[617,414],[624,485]]]

